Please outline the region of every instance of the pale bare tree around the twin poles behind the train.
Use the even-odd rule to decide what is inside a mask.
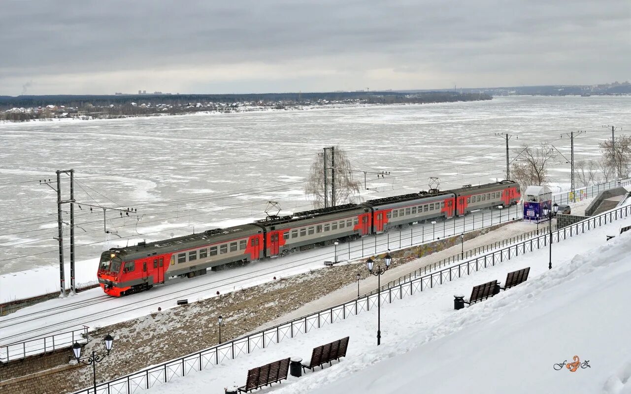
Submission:
[[[329,154],[327,156],[331,155]],[[333,162],[335,163],[334,170],[331,168]],[[336,146],[333,158],[327,157],[326,163],[326,191],[329,206],[338,206],[350,203],[353,196],[359,193],[360,184],[359,182],[353,180],[353,172],[350,171],[351,165],[348,161],[346,151],[339,148],[339,146]],[[331,180],[333,179],[333,171],[335,175],[335,199],[333,204],[331,204]],[[309,195],[314,204],[314,208],[317,209],[324,207],[324,154],[322,153],[317,154],[311,165],[309,178],[307,178],[307,184],[305,185],[305,193]]]

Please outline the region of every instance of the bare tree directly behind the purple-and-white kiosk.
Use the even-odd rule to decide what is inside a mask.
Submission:
[[[517,150],[518,156],[510,168],[512,180],[522,188],[530,185],[545,185],[548,182],[548,166],[557,157],[554,148],[540,144],[523,144]]]

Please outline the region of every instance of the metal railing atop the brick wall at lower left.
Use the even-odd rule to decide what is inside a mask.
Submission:
[[[0,346],[0,363],[23,359],[35,354],[47,353],[71,346],[74,342],[88,342],[88,326],[80,330],[57,333],[48,337],[15,342]]]

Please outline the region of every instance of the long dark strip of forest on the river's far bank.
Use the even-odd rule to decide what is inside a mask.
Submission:
[[[449,101],[491,100],[490,95],[478,93],[456,93],[430,91],[423,93],[375,92],[329,92],[329,93],[252,93],[247,95],[45,95],[45,96],[0,96],[0,110],[11,108],[37,108],[47,105],[64,107],[125,107],[131,103],[187,105],[188,103],[237,103],[261,102],[297,104],[318,100],[344,101],[362,100],[366,103],[438,103]]]

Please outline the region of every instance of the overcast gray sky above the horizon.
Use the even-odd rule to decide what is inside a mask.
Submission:
[[[631,79],[630,0],[3,0],[0,95]]]

